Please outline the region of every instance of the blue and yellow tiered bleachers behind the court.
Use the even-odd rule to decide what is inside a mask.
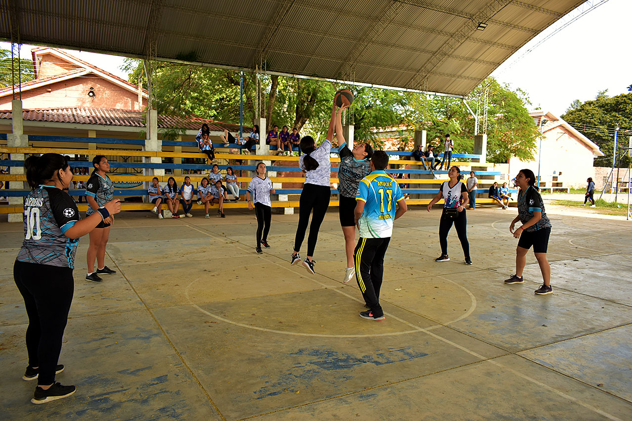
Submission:
[[[0,140],[6,140],[6,134],[0,133]],[[149,203],[149,199],[147,198],[147,185],[154,176],[150,175],[150,173],[148,174],[148,170],[162,169],[178,173],[157,176],[161,185],[166,184],[170,176],[173,176],[178,184],[183,183],[185,176],[189,176],[191,183],[197,185],[212,168],[212,164],[207,161],[207,157],[199,152],[197,142],[162,140],[162,151],[160,152],[143,150],[145,140],[131,138],[29,135],[28,142],[30,145],[28,148],[0,146],[0,166],[23,166],[24,162],[21,160],[5,159],[9,154],[28,155],[54,152],[79,157],[81,160],[70,162],[71,167],[86,167],[91,171],[92,156],[107,156],[110,166],[113,169],[108,175],[115,183],[114,196],[121,198],[123,210],[150,210],[153,208],[153,205]],[[88,149],[91,144],[107,147],[108,149]],[[251,154],[243,154],[244,147],[242,145],[234,143],[229,144],[228,147],[224,146],[223,143],[213,143],[213,145],[216,148],[216,159],[219,161],[218,166],[222,173],[226,173],[225,170],[228,166],[231,166],[234,171],[241,172],[241,176],[238,176],[238,181],[241,182],[240,193],[242,194],[242,198],[245,195],[248,182],[252,176],[254,176],[257,162],[268,161],[270,162],[270,165],[267,166],[269,177],[276,188],[276,194],[272,196],[272,207],[298,207],[298,199],[302,190],[301,184],[304,181],[301,170],[298,168],[298,154],[296,154],[297,156],[257,155],[257,146],[253,147],[254,152],[251,152]],[[270,147],[272,153],[274,153],[274,149],[276,148]],[[295,147],[295,151],[298,151],[298,148]],[[235,152],[239,152],[239,154]],[[332,152],[335,153],[338,152],[338,150],[332,149]],[[389,173],[395,176],[396,174],[403,173],[411,177],[397,179],[400,185],[408,185],[408,188],[403,188],[403,192],[404,194],[411,195],[411,197],[406,200],[409,205],[428,204],[436,194],[441,183],[447,180],[447,171],[423,169],[422,162],[411,161],[412,152],[387,151],[387,154],[392,157],[391,161],[389,161],[389,169],[387,170]],[[152,157],[161,158],[161,162],[149,162],[149,159]],[[197,159],[204,163],[182,163],[183,159]],[[480,156],[473,154],[453,154],[453,159],[480,159]],[[165,162],[171,160],[173,160],[173,163]],[[337,163],[340,162],[340,160],[337,157],[332,157],[331,162],[331,182],[332,185],[337,186]],[[471,169],[475,171],[479,179],[478,192],[480,192],[478,194],[480,197],[477,197],[477,205],[494,203],[492,199],[487,198],[487,188],[489,188],[494,181],[498,181],[501,185],[504,181],[507,181],[497,180],[501,175],[500,172],[488,170],[490,167],[493,167],[494,164],[487,162],[459,161],[453,162],[452,164],[461,168],[464,180],[469,176]],[[399,168],[400,166],[409,165],[410,169]],[[118,173],[118,169],[129,169],[133,171],[133,173],[130,174],[126,172],[121,174]],[[281,175],[278,175],[279,173],[281,173]],[[89,175],[75,175],[74,180],[86,181],[88,178]],[[5,182],[9,181],[10,183],[11,181],[25,181],[26,178],[23,174],[0,174],[0,180]],[[117,188],[117,183],[131,183],[135,186],[131,186],[131,188]],[[25,197],[29,191],[28,188],[2,190],[0,197]],[[515,190],[513,190],[513,192],[515,192]],[[83,193],[84,190],[70,190],[70,195],[75,197],[83,195]],[[338,194],[336,188],[332,187],[331,194]],[[139,200],[144,200],[145,202]],[[332,199],[330,205],[337,206],[337,200]],[[78,206],[82,211],[87,209],[87,204],[79,204]],[[197,204],[193,205],[193,209],[203,208],[203,206]],[[247,208],[247,203],[245,200],[241,202],[226,202],[224,208]],[[21,212],[23,212],[21,205],[0,205],[0,213]]]

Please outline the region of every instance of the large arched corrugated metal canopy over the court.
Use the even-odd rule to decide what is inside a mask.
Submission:
[[[467,95],[584,0],[7,0],[0,38]]]

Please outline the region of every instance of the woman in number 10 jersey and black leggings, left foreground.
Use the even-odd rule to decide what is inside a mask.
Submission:
[[[24,201],[24,241],[13,266],[13,278],[28,315],[28,367],[24,380],[37,379],[32,403],[46,403],[75,393],[75,386],[55,382],[61,340],[68,321],[75,283],[73,269],[79,237],[121,211],[119,200],[107,202],[80,219],[75,200],[64,188],[73,173],[65,157],[44,154],[24,162],[28,185]]]

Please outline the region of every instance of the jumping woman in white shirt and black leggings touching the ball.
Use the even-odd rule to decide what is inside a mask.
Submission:
[[[336,119],[341,119],[342,112],[349,106],[336,107],[333,101],[331,109],[331,119],[327,137],[322,145],[316,147],[311,136],[301,138],[301,151],[303,155],[298,159],[298,166],[305,172],[305,184],[301,192],[300,207],[298,210],[298,227],[296,227],[296,238],[294,241],[294,252],[291,256],[292,265],[301,261],[298,252],[305,239],[305,231],[313,210],[312,224],[310,224],[310,235],[307,238],[307,257],[303,260],[303,266],[310,274],[314,274],[313,253],[318,240],[320,224],[327,213],[329,198],[331,197],[331,139],[334,137],[334,127]]]

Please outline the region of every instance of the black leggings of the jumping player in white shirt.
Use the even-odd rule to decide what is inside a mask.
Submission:
[[[310,257],[314,255],[320,224],[329,207],[329,198],[331,198],[331,187],[315,184],[303,185],[298,209],[298,227],[296,227],[296,238],[294,240],[294,251],[296,253],[301,250],[301,244],[303,244],[305,231],[307,231],[307,224],[310,221],[310,214],[313,209],[310,235],[307,237],[307,255]]]

